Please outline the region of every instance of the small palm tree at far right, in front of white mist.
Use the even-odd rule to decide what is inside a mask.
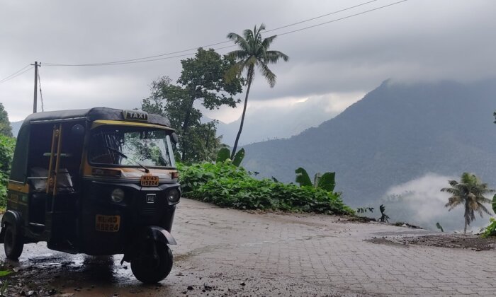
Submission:
[[[483,212],[491,214],[483,204],[492,201],[484,197],[484,194],[495,192],[495,190],[489,189],[486,183],[481,183],[478,177],[471,173],[463,173],[460,182],[456,180],[449,180],[448,182],[451,187],[441,189],[441,192],[451,194],[448,203],[444,206],[449,207],[449,211],[458,205],[465,206],[463,233],[467,233],[467,225],[475,220],[475,211],[480,214],[481,218]]]

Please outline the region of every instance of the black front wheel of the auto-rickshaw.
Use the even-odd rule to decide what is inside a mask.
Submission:
[[[156,284],[162,281],[172,269],[172,251],[169,246],[163,243],[154,244],[157,250],[156,257],[154,255],[142,255],[142,257],[131,260],[131,271],[138,281],[145,284]],[[145,257],[148,260],[145,260]]]

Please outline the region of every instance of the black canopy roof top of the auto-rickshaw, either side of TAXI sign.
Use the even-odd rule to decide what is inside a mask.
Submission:
[[[96,120],[126,121],[123,110],[108,107],[94,107],[86,110],[56,110],[33,113],[26,117],[26,120],[24,120],[21,127],[40,122],[65,122],[70,120],[87,120],[89,122],[94,122]],[[162,117],[161,115],[148,114],[147,122],[150,124],[171,127],[169,119],[167,119],[167,117]]]

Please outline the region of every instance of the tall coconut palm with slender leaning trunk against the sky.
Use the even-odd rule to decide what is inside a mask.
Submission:
[[[277,35],[262,39],[261,31],[263,30],[265,30],[265,25],[262,23],[259,28],[255,25],[253,30],[244,30],[242,36],[236,33],[227,34],[227,38],[234,41],[239,47],[239,50],[234,50],[228,54],[235,57],[237,62],[229,71],[227,71],[227,78],[235,77],[242,74],[242,72],[247,71],[247,92],[244,95],[243,114],[241,116],[241,123],[239,124],[235,146],[232,148],[231,158],[234,158],[235,156],[239,136],[243,129],[244,115],[247,111],[249,88],[252,86],[255,75],[255,66],[257,66],[261,75],[264,76],[271,88],[273,88],[276,84],[276,74],[269,69],[268,64],[275,64],[279,59],[283,59],[284,62],[287,62],[289,59],[289,57],[282,52],[269,50],[271,43],[276,39]]]

